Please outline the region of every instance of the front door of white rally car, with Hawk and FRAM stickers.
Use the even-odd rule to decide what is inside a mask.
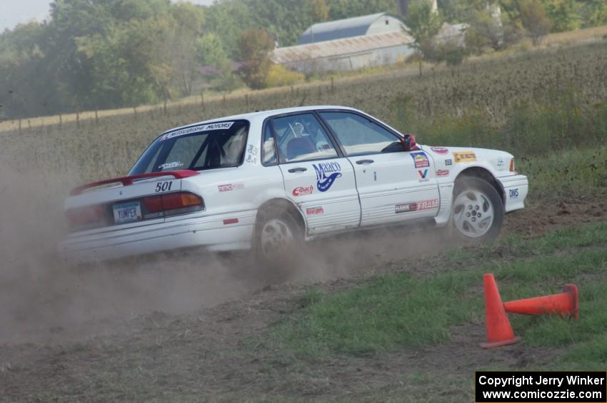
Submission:
[[[440,200],[432,157],[404,151],[400,137],[353,111],[318,111],[351,161],[361,226],[434,217]]]

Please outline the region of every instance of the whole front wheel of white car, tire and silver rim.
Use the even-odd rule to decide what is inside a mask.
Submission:
[[[495,240],[503,214],[503,200],[486,180],[464,177],[456,181],[448,225],[453,240],[468,245]]]

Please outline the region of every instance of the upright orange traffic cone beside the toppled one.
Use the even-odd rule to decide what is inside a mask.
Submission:
[[[484,349],[513,345],[520,340],[514,336],[506,310],[503,309],[496,280],[492,274],[483,277],[485,282],[485,315],[487,342],[481,343]]]

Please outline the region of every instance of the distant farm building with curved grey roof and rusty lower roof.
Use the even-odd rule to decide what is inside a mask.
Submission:
[[[314,24],[298,45],[275,49],[271,59],[302,73],[396,63],[413,53],[413,39],[403,28],[388,13]]]

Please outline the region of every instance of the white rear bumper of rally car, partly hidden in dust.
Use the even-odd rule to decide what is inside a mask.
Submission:
[[[236,218],[238,222],[234,223]],[[229,217],[185,218],[97,234],[74,233],[59,243],[59,252],[68,262],[85,263],[191,247],[247,249],[251,248],[254,222],[254,212],[241,212]]]

